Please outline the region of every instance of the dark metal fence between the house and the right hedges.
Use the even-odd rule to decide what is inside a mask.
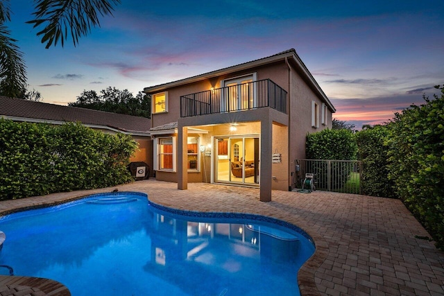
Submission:
[[[314,174],[318,190],[361,194],[362,164],[357,160],[296,159],[296,188],[306,173]]]

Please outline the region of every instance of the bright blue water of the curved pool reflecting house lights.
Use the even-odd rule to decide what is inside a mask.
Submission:
[[[173,211],[107,193],[0,218],[0,265],[77,295],[299,295],[309,236],[262,216]],[[0,268],[8,275],[7,268]]]

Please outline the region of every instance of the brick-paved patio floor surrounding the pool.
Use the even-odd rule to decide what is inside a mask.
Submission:
[[[400,200],[273,191],[271,202],[259,202],[258,189],[190,183],[182,191],[176,183],[145,180],[2,201],[0,214],[114,189],[144,192],[149,200],[176,209],[260,214],[298,225],[316,243],[314,256],[298,274],[302,295],[444,295],[444,252],[415,238],[429,234]],[[69,295],[57,284],[3,276],[0,295],[25,295],[26,288],[34,289],[29,295]]]

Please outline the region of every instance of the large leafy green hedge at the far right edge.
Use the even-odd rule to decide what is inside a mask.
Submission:
[[[439,88],[439,87],[436,87]],[[444,87],[388,124],[389,177],[413,215],[444,249]]]

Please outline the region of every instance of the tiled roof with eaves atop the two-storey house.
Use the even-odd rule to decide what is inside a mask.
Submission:
[[[237,64],[231,67],[227,67],[227,68],[223,68],[223,69],[219,69],[216,71],[211,71],[211,72],[207,72],[207,73],[203,73],[197,76],[192,76],[189,78],[185,78],[185,79],[181,79],[181,80],[176,80],[173,82],[168,82],[168,83],[164,83],[162,85],[154,85],[152,87],[145,87],[144,88],[144,92],[146,94],[155,94],[155,92],[162,92],[167,88],[170,87],[176,87],[179,85],[185,85],[187,83],[191,83],[191,82],[197,82],[200,80],[205,80],[208,78],[212,78],[214,76],[221,76],[221,75],[225,75],[228,73],[232,73],[234,71],[241,71],[244,69],[249,69],[249,68],[253,68],[253,67],[259,67],[262,66],[264,64],[269,64],[271,62],[278,62],[280,60],[289,60],[289,62],[292,62],[292,64],[294,66],[296,66],[296,70],[298,70],[298,72],[300,73],[300,75],[302,76],[302,78],[305,78],[305,80],[307,80],[308,85],[314,89],[314,91],[316,92],[316,94],[318,96],[320,96],[321,98],[323,98],[323,101],[325,101],[325,103],[327,103],[327,105],[330,107],[330,109],[332,110],[332,112],[336,112],[336,109],[334,108],[333,104],[330,102],[330,100],[327,98],[327,96],[325,95],[325,93],[323,92],[323,90],[321,89],[321,87],[318,85],[318,82],[316,82],[316,80],[314,79],[314,77],[311,75],[310,71],[307,69],[307,67],[305,66],[304,62],[302,62],[302,60],[300,60],[299,55],[296,53],[295,49],[289,49],[287,51],[282,51],[280,53],[276,53],[275,55],[270,55],[266,58],[260,58],[257,60],[252,60],[250,62],[244,62],[242,64]]]

